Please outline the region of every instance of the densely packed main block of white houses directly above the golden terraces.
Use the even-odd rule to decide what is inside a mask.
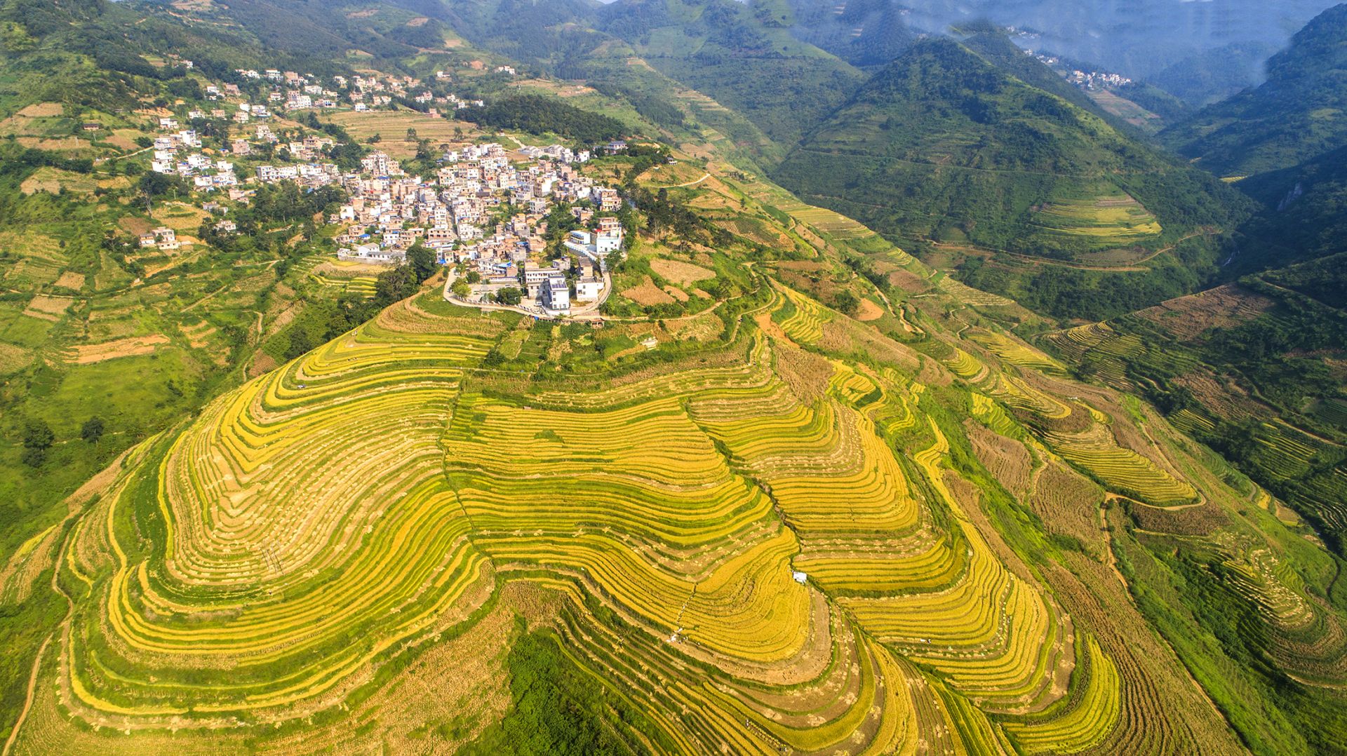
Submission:
[[[597,301],[607,257],[624,240],[621,222],[603,213],[621,209],[621,197],[577,170],[589,159],[583,151],[551,146],[515,158],[497,143],[474,144],[447,152],[438,174],[423,178],[407,175],[384,152],[365,156],[362,172],[341,177],[350,201],[329,218],[346,225],[338,257],[396,264],[419,243],[440,264],[474,265],[477,299],[520,288],[531,306],[554,313],[568,311],[572,299]],[[559,202],[577,203],[571,213],[585,226],[564,243],[581,260],[574,271],[570,256],[541,261],[547,216]]]

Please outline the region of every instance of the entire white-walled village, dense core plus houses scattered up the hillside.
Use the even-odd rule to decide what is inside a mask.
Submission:
[[[279,116],[271,111],[277,104],[287,112],[335,108],[339,92],[294,71],[237,74],[269,82],[269,105],[248,102],[237,85],[209,85],[207,98],[224,100],[237,108],[234,113],[224,108],[187,113],[193,124],[228,119],[220,150],[203,147],[198,131],[183,128],[174,116],[159,117],[160,133],[151,146],[152,171],[191,182],[199,195],[218,197],[201,203],[211,216],[222,216],[211,225],[214,233],[237,232],[225,201],[248,203],[257,185],[294,182],[303,191],[337,186],[346,201],[326,221],[339,226],[333,239],[339,260],[399,265],[420,245],[434,252],[438,264],[462,271],[455,272],[462,284],[453,292],[462,303],[498,303],[546,317],[568,314],[572,303],[594,310],[605,298],[607,260],[622,249],[625,230],[616,217],[622,208],[617,190],[598,186],[578,170],[593,151],[563,144],[517,150],[469,144],[440,154],[434,175],[409,175],[399,160],[376,151],[360,159],[358,170],[342,170],[333,159],[343,147],[337,139],[273,129]],[[482,104],[418,92],[422,82],[412,77],[334,77],[333,85],[356,111],[393,108],[397,98],[453,108]],[[435,109],[428,115],[435,116]],[[612,141],[602,150],[625,148]],[[572,218],[567,225],[577,228],[554,229],[548,241],[548,218],[559,206]],[[139,243],[172,252],[191,240],[160,226],[140,234]]]

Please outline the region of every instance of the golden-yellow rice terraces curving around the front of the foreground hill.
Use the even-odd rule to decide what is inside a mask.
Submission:
[[[519,581],[559,592],[568,654],[643,701],[659,749],[1096,747],[1117,670],[971,524],[924,387],[818,357],[783,379],[831,315],[776,307],[780,336],[741,329],[723,367],[520,393],[470,376],[532,330],[400,305],[222,396],[75,522],[18,751],[71,722],[241,748]]]

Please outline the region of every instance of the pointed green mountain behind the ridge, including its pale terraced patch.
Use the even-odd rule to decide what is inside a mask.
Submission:
[[[1029,280],[1063,275],[1043,264],[1079,279],[1144,274],[1105,284],[1117,287],[1107,296],[1137,305],[1191,290],[1216,257],[1202,237],[1234,225],[1247,203],[948,39],[921,40],[874,74],[775,175],[900,240],[1026,259],[1037,267],[983,279],[1017,298],[1052,288]],[[1080,314],[1075,307],[1047,306],[1059,315]]]

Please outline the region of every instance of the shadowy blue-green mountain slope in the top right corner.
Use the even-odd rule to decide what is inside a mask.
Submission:
[[[1268,61],[1268,81],[1161,135],[1227,177],[1288,168],[1347,146],[1347,4],[1316,16]]]

